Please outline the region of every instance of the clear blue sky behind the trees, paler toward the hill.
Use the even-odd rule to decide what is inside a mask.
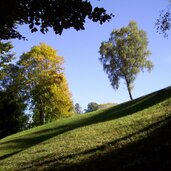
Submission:
[[[154,64],[151,73],[144,72],[137,76],[133,97],[148,94],[171,85],[171,33],[166,39],[156,32],[155,22],[169,0],[91,0],[94,5],[102,6],[115,17],[103,25],[87,20],[84,31],[68,29],[61,36],[51,30],[48,34],[30,33],[26,26],[19,30],[28,41],[13,40],[16,56],[29,51],[34,45],[44,42],[58,51],[65,60],[65,74],[69,83],[74,103],[79,103],[83,109],[89,102],[121,103],[129,100],[126,85],[121,81],[115,91],[103,67],[100,64],[99,47],[102,41],[107,41],[113,29],[117,29],[134,20],[140,29],[147,32],[149,49],[152,52],[150,60]]]

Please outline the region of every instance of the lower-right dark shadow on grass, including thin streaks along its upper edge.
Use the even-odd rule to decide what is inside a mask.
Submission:
[[[100,147],[83,152],[55,158],[47,155],[30,161],[26,166],[15,171],[32,170],[32,167],[45,171],[88,171],[88,170],[138,170],[138,171],[168,171],[171,169],[171,117],[160,120],[150,126],[119,138]],[[116,149],[123,141],[134,139],[135,136],[148,133],[147,137],[138,142],[129,143]],[[116,150],[115,150],[116,149]],[[96,153],[98,152],[98,153]],[[90,155],[91,158],[78,164],[68,164],[65,161],[79,156]],[[66,165],[67,164],[67,165]],[[45,167],[44,167],[45,166]]]

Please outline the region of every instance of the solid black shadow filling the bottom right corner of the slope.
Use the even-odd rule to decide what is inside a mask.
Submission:
[[[115,170],[115,171],[170,171],[171,170],[171,121],[154,130],[151,135],[121,149],[60,169]],[[49,169],[57,168],[54,164]],[[56,169],[57,170],[57,169]]]

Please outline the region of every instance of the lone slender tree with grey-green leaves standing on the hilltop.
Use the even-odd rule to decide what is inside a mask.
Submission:
[[[127,27],[113,30],[107,42],[102,42],[99,60],[108,74],[114,89],[119,88],[120,79],[124,79],[132,100],[133,82],[144,68],[151,70],[153,65],[147,60],[150,51],[147,49],[146,33],[139,30],[136,22],[131,21]]]

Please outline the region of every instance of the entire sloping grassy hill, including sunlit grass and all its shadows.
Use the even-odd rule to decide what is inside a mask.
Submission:
[[[10,170],[171,170],[171,87],[0,140]]]

